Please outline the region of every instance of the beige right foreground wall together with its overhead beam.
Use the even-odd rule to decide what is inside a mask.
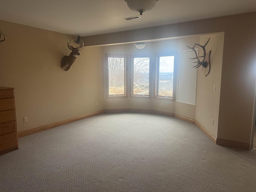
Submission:
[[[86,46],[94,46],[218,32],[225,32],[218,138],[250,143],[256,82],[256,12],[83,39]]]

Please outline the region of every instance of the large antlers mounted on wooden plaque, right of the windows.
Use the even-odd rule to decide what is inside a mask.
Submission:
[[[189,58],[189,59],[197,59],[196,62],[193,62],[193,63],[197,63],[197,65],[195,66],[192,66],[194,68],[198,68],[202,65],[202,70],[203,72],[205,73],[205,76],[207,76],[209,73],[210,73],[210,70],[211,70],[211,64],[210,64],[210,55],[211,55],[211,50],[206,54],[206,50],[205,50],[205,46],[208,44],[210,38],[208,39],[208,41],[206,42],[206,44],[204,46],[200,45],[200,44],[194,44],[193,47],[189,47],[187,46],[188,48],[192,49],[195,54],[196,54],[196,57],[195,58]],[[196,50],[195,50],[195,46],[199,46],[202,48],[202,50],[204,51],[204,55],[203,56],[198,56],[197,53],[196,53]],[[199,59],[199,58],[203,58],[202,61]]]

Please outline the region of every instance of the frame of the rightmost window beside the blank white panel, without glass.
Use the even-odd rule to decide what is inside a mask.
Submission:
[[[173,76],[172,76],[172,97],[170,96],[160,96],[158,95],[158,86],[159,86],[159,68],[160,68],[160,57],[166,56],[174,56],[174,64],[173,64]],[[176,82],[176,53],[166,53],[166,54],[158,54],[156,56],[156,73],[155,73],[155,83],[154,83],[154,99],[167,99],[167,100],[174,100],[175,99],[175,82]]]

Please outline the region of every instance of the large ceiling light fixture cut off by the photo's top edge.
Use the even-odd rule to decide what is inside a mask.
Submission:
[[[142,15],[143,12],[149,11],[156,5],[158,0],[125,0],[128,7],[132,11],[139,12]]]

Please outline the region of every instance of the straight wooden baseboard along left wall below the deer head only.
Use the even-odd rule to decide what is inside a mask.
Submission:
[[[102,113],[104,113],[104,111],[100,110],[100,111],[96,111],[96,112],[93,112],[93,113],[78,116],[78,117],[75,117],[75,118],[71,118],[71,119],[68,119],[68,120],[64,120],[64,121],[52,123],[52,124],[49,124],[49,125],[41,126],[41,127],[38,127],[38,128],[22,131],[22,132],[18,133],[18,138],[21,138],[21,137],[24,137],[24,136],[27,136],[27,135],[31,135],[31,134],[34,134],[34,133],[38,133],[38,132],[41,132],[41,131],[44,131],[44,130],[52,129],[52,128],[62,126],[62,125],[65,125],[65,124],[68,124],[68,123],[71,123],[71,122],[74,122],[74,121],[78,121],[78,120],[81,120],[81,119],[85,119],[85,118],[88,118],[88,117],[96,116],[96,115],[99,115],[99,114],[102,114]]]

